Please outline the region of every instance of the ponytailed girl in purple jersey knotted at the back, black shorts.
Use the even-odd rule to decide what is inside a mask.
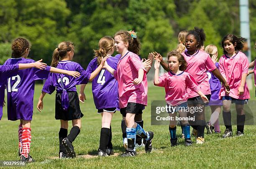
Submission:
[[[37,104],[37,109],[41,112],[45,94],[51,94],[56,89],[55,119],[60,119],[61,122],[61,128],[59,130],[59,158],[76,157],[72,142],[74,142],[80,132],[81,117],[83,117],[79,106],[76,85],[87,84],[88,81],[92,81],[102,69],[105,60],[108,59],[108,57],[102,58],[97,69],[89,73],[81,65],[71,61],[73,56],[74,45],[72,42],[59,43],[58,47],[54,50],[51,66],[77,71],[81,76],[74,79],[61,74],[50,74],[44,84]],[[67,135],[69,120],[72,120],[73,127],[69,135]]]

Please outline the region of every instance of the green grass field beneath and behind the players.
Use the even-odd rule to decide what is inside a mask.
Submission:
[[[179,146],[170,147],[168,126],[151,126],[151,100],[164,100],[164,88],[148,87],[148,107],[143,111],[144,128],[154,131],[153,150],[144,153],[137,149],[136,157],[121,158],[124,151],[120,129],[121,114],[114,114],[112,121],[113,146],[116,155],[97,157],[99,146],[101,116],[97,114],[92,99],[91,85],[86,87],[87,101],[80,104],[84,114],[82,129],[73,145],[75,159],[58,159],[59,156],[59,120],[54,118],[55,93],[44,98],[43,113],[36,110],[36,104],[42,85],[36,85],[34,114],[32,120],[32,142],[30,155],[36,162],[27,164],[28,168],[256,168],[256,127],[245,126],[243,137],[222,139],[221,134],[205,134],[205,144],[193,144],[185,147],[180,139],[181,129],[177,127]],[[254,93],[254,92],[251,92]],[[254,97],[255,99],[255,97]],[[0,121],[0,160],[19,160],[18,124],[8,121],[6,107]],[[222,118],[222,115],[220,116]],[[72,123],[69,122],[69,129]],[[224,126],[221,126],[222,133]],[[206,130],[205,130],[206,131]],[[236,126],[233,126],[236,131]],[[195,138],[192,138],[195,142]]]

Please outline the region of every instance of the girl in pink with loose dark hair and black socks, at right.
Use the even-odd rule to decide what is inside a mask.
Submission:
[[[241,52],[243,49],[243,37],[236,37],[229,34],[223,37],[222,47],[224,55],[220,57],[220,72],[230,86],[230,93],[225,92],[225,88],[220,89],[220,99],[223,102],[223,121],[226,127],[223,138],[232,136],[231,125],[231,103],[236,103],[237,113],[237,136],[243,136],[245,123],[245,112],[243,104],[250,99],[249,89],[246,84],[248,73],[248,60]]]

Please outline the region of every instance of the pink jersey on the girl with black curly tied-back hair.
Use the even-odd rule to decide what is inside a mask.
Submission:
[[[183,52],[182,55],[187,61],[187,69],[185,72],[188,72],[192,77],[194,77],[197,82],[200,91],[203,94],[211,94],[210,84],[207,76],[207,70],[212,72],[217,67],[212,62],[210,55],[205,53],[202,50],[197,50],[194,55],[189,55],[186,52]],[[197,97],[198,94],[195,91],[187,88],[187,93],[189,94],[188,98]]]

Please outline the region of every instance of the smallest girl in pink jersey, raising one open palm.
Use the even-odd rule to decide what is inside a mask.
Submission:
[[[187,87],[195,91],[200,95],[202,100],[206,103],[208,102],[207,97],[200,91],[199,87],[197,87],[197,82],[195,79],[187,72],[184,72],[187,68],[187,62],[177,51],[172,51],[167,54],[168,58],[168,67],[169,72],[165,73],[163,76],[159,77],[159,66],[160,63],[158,60],[155,62],[155,78],[154,85],[165,88],[165,99],[167,104],[175,107],[175,112],[171,113],[170,116],[174,117],[174,120],[170,120],[169,124],[169,132],[171,136],[171,146],[176,146],[178,144],[178,140],[176,137],[176,114],[179,112],[179,117],[187,117],[187,112],[185,109],[187,108],[187,99],[188,93],[186,92]],[[184,109],[182,109],[184,107]],[[185,137],[185,145],[192,145],[192,141],[190,139],[190,126],[187,120],[181,121],[182,128],[184,131]]]

